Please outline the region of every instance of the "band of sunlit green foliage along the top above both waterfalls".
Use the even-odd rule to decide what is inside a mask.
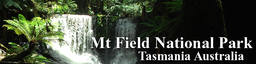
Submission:
[[[19,14],[26,12],[41,17],[45,14],[79,14],[83,11],[91,16],[138,17],[143,7],[145,12],[151,12],[155,2],[156,0],[0,0],[0,10],[9,9]],[[78,5],[83,8],[77,7]]]

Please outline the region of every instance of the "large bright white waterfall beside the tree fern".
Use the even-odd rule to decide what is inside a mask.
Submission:
[[[93,37],[92,18],[87,15],[50,15],[52,24],[59,24],[56,31],[64,32],[66,43],[52,43],[53,57],[59,61],[53,64],[101,64],[97,59],[97,51],[92,50],[91,38]]]

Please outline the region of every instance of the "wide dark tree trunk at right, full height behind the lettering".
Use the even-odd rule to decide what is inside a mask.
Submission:
[[[214,38],[214,49],[190,48],[188,53],[191,53],[191,57],[196,57],[197,52],[202,54],[225,53],[225,49],[219,48],[220,39],[218,38],[227,37],[220,0],[183,0],[183,14],[184,39],[210,41],[210,37]],[[223,64],[224,61],[191,61],[189,63]]]

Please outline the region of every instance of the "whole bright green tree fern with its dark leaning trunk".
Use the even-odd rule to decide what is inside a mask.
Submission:
[[[50,41],[64,41],[63,35],[65,33],[53,31],[56,26],[52,25],[49,20],[42,19],[40,17],[35,17],[31,21],[26,20],[23,15],[18,16],[18,20],[14,18],[13,20],[4,20],[9,25],[3,25],[7,27],[7,30],[14,30],[18,35],[25,35],[29,41],[28,50],[25,50],[21,53],[17,53],[10,59],[3,59],[3,61],[19,61],[20,59],[28,56],[32,53],[35,48],[36,42],[43,41],[44,43],[51,44]],[[50,39],[47,39],[50,38]],[[13,46],[16,46],[13,43],[10,43]],[[20,46],[14,48],[21,48]],[[20,52],[20,51],[19,51]]]

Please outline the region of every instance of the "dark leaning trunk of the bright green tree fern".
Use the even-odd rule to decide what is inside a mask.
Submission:
[[[2,61],[18,62],[19,60],[23,59],[24,57],[30,55],[32,53],[32,51],[34,50],[35,46],[36,46],[35,42],[29,42],[28,50],[23,51],[14,56],[5,57]]]

